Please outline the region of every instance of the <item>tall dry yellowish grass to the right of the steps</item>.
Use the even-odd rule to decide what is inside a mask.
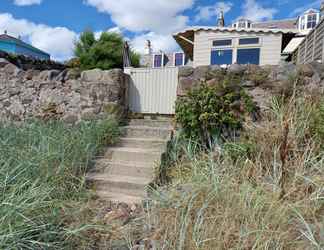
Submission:
[[[147,220],[159,249],[324,249],[322,105],[274,99],[239,141],[184,144]]]

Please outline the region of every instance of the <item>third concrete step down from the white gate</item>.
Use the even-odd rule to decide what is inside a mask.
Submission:
[[[159,138],[120,138],[117,143],[119,147],[131,147],[142,149],[158,149],[164,151],[167,144],[167,140],[161,140]]]

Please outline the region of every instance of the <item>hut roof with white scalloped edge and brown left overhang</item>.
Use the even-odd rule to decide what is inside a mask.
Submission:
[[[269,33],[269,34],[297,34],[297,29],[266,29],[266,28],[233,28],[217,26],[193,26],[183,31],[173,34],[174,39],[180,45],[186,55],[193,60],[194,34],[198,31],[220,31],[220,32],[239,32],[239,33]]]

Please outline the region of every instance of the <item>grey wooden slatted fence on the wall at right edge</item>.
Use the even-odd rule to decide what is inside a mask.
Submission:
[[[297,63],[324,62],[324,19],[306,36],[297,50]]]

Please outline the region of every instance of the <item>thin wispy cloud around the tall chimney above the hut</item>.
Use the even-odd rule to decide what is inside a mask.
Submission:
[[[214,5],[198,7],[198,14],[195,16],[195,21],[209,21],[216,17],[220,11],[223,11],[224,14],[226,14],[232,9],[232,7],[233,4],[231,2],[217,2]]]

